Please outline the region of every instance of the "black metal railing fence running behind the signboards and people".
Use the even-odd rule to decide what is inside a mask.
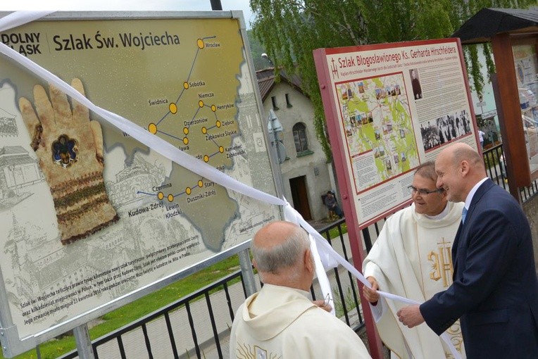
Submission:
[[[494,146],[487,151],[484,151],[484,163],[486,164],[487,175],[494,180],[499,186],[504,189],[508,189],[508,181],[506,180],[506,162],[503,158],[503,148],[502,144]],[[538,184],[536,181],[532,183],[530,187],[525,187],[520,189],[520,194],[522,201],[527,201],[530,197],[538,191]],[[373,240],[372,238],[377,238],[377,235],[380,233],[384,220],[376,222],[368,228],[363,229],[363,245],[365,246],[366,251],[370,251],[372,248]],[[331,246],[338,247],[339,251],[346,260],[352,263],[352,258],[349,257],[348,253],[351,253],[349,248],[349,241],[344,237],[346,233],[346,224],[345,219],[339,220],[337,222],[331,223],[322,229],[319,229],[320,234],[329,241]],[[336,236],[335,236],[336,232]],[[332,236],[331,236],[332,234]],[[330,237],[334,237],[331,239]],[[359,329],[364,327],[365,323],[363,316],[360,310],[360,300],[358,295],[358,289],[356,286],[356,280],[347,270],[342,270],[342,268],[334,268],[330,275],[333,291],[334,291],[334,303],[337,309],[337,315],[342,317],[345,320],[346,324],[349,325],[352,329],[358,332]],[[237,282],[241,282],[242,286],[242,296],[237,298],[234,303],[232,303],[232,296],[230,295],[230,286],[233,284],[237,285]],[[260,284],[261,285],[261,284]],[[216,291],[224,293],[225,299],[221,299],[218,303],[215,303],[215,299],[212,294]],[[237,290],[236,290],[237,291]],[[314,285],[311,288],[311,294],[313,299],[323,298],[321,296],[320,289]],[[218,356],[218,358],[227,358],[227,350],[223,349],[225,343],[227,343],[227,337],[229,336],[230,327],[227,325],[223,330],[222,318],[220,322],[215,319],[213,315],[213,308],[215,306],[227,306],[227,317],[225,321],[231,323],[234,319],[234,313],[236,308],[244,301],[246,298],[246,289],[243,284],[242,273],[240,270],[237,272],[223,277],[223,279],[210,284],[199,291],[196,291],[189,296],[180,298],[178,301],[171,303],[170,305],[157,310],[154,313],[146,315],[145,317],[140,318],[136,322],[132,322],[130,325],[126,325],[115,332],[106,334],[99,339],[92,341],[92,348],[94,351],[95,358],[100,358],[101,348],[108,345],[109,347],[114,345],[116,348],[113,349],[116,355],[114,358],[129,358],[130,355],[127,355],[126,344],[124,343],[125,336],[129,335],[132,332],[139,332],[139,342],[143,341],[145,353],[140,351],[137,352],[135,358],[157,358],[155,356],[155,347],[157,345],[163,345],[162,341],[160,344],[154,344],[151,339],[150,331],[148,329],[151,323],[160,320],[165,323],[165,333],[168,334],[167,345],[170,347],[170,353],[173,355],[173,358],[206,358],[204,353],[204,348],[212,348],[213,354],[211,358]],[[205,310],[208,313],[208,321],[200,319],[194,316],[192,313],[192,306],[195,303],[204,301]],[[225,301],[225,303],[220,303]],[[181,327],[176,327],[173,321],[170,319],[173,313],[176,313],[178,310],[183,310],[186,313],[189,323],[189,329],[187,329],[186,322],[181,322]],[[196,327],[196,322],[203,321],[206,325],[211,326],[211,332],[213,333],[210,339],[200,339],[199,328]],[[178,336],[189,336],[191,339],[191,348],[182,349],[178,348],[177,340]],[[162,339],[162,338],[161,338]],[[139,346],[140,347],[140,346]],[[110,351],[110,349],[108,349]],[[223,353],[226,353],[224,355]],[[110,356],[110,355],[104,355]],[[101,356],[101,357],[104,357]],[[76,358],[77,351],[72,351],[66,355],[63,355],[63,359]]]

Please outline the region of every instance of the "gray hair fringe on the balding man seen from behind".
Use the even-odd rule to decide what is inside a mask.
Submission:
[[[282,243],[262,248],[252,241],[251,252],[259,272],[268,272],[277,275],[280,268],[293,267],[301,260],[301,255],[310,248],[308,235],[297,226],[292,234]]]

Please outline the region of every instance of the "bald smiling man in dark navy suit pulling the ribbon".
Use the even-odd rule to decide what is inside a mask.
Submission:
[[[467,144],[435,162],[437,187],[465,201],[452,247],[453,284],[420,306],[398,312],[404,325],[423,322],[442,334],[460,318],[467,358],[538,358],[538,279],[529,222],[510,194],[486,176]]]

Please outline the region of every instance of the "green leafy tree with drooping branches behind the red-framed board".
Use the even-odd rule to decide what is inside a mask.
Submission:
[[[314,125],[327,160],[332,155],[312,51],[449,37],[484,7],[528,8],[536,0],[251,0],[254,35],[275,64],[303,80],[314,106]],[[494,70],[491,47],[482,46],[488,72]],[[471,84],[482,94],[484,78],[475,45],[464,46]],[[487,79],[489,80],[489,79]]]

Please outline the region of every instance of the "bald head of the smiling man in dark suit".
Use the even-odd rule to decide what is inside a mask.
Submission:
[[[444,188],[452,202],[463,202],[475,184],[486,176],[480,153],[461,142],[446,147],[435,160],[437,187]]]

